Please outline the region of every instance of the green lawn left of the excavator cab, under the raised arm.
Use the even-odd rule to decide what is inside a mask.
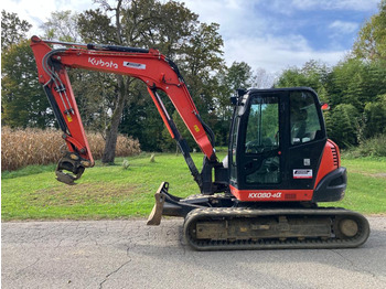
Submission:
[[[201,168],[202,154],[193,156]],[[162,181],[179,196],[199,193],[183,157],[150,154],[127,158],[129,168],[117,165],[87,169],[76,185],[55,180],[54,165],[28,167],[2,173],[2,221],[55,218],[119,218],[146,216],[154,204],[154,193]]]

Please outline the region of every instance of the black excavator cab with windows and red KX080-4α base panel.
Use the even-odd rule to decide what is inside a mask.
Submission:
[[[328,141],[317,94],[250,89],[235,101],[229,186],[242,201],[312,201]]]

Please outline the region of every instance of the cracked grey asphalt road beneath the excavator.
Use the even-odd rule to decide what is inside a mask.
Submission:
[[[194,251],[183,221],[1,224],[2,288],[386,288],[386,217],[356,249]]]

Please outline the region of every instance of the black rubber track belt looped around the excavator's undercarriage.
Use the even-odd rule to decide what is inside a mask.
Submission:
[[[249,218],[258,216],[326,216],[332,220],[336,217],[351,217],[357,221],[358,233],[346,239],[332,236],[329,239],[309,238],[299,240],[297,238],[279,239],[240,239],[240,240],[197,240],[190,234],[190,227],[195,226],[200,220],[230,220],[234,217]],[[332,224],[333,227],[333,224]],[[361,214],[344,208],[279,208],[279,210],[248,210],[248,208],[196,208],[190,212],[184,222],[184,237],[186,243],[196,250],[240,250],[240,249],[332,249],[354,248],[364,244],[369,235],[368,221]]]

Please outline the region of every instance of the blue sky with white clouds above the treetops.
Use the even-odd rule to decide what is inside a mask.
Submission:
[[[111,0],[110,0],[111,1]],[[180,1],[180,0],[178,0]],[[350,52],[380,0],[184,0],[201,22],[216,22],[227,65],[279,74],[310,60],[335,65]],[[161,0],[165,2],[165,0]],[[51,12],[96,9],[93,0],[2,0],[1,10],[29,21],[32,34]]]

